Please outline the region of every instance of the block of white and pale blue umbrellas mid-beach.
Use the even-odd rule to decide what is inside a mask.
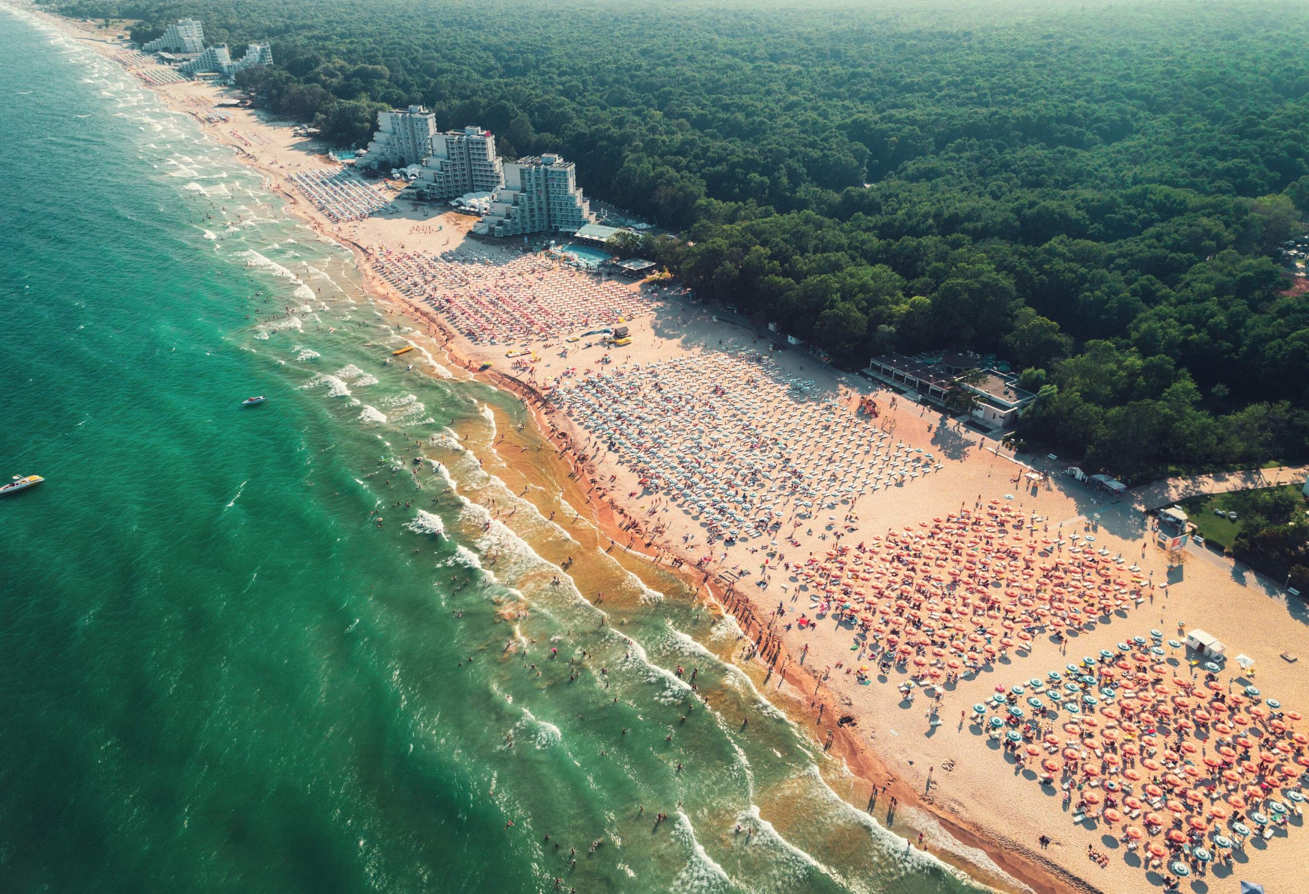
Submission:
[[[554,394],[589,433],[583,446],[622,462],[643,493],[702,521],[706,546],[775,535],[795,542],[802,525],[834,530],[829,513],[838,509],[844,531],[831,537],[839,539],[855,530],[856,499],[941,469],[931,453],[894,440],[870,415],[818,398],[813,380],[784,376],[753,349],[611,372],[567,368]]]

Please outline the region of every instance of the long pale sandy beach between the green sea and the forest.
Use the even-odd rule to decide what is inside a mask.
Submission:
[[[122,52],[102,34],[60,24],[106,55]],[[1131,818],[1109,821],[1103,804],[1084,809],[1084,819],[1073,821],[1086,793],[1111,789],[1100,781],[1083,788],[1090,758],[1073,760],[1075,767],[1064,762],[1066,734],[1085,732],[1062,732],[1069,723],[1067,712],[1045,720],[1060,740],[1049,751],[1043,730],[1028,736],[1009,723],[1003,706],[982,713],[974,706],[997,690],[1008,694],[1033,679],[1050,679],[1051,671],[1071,674],[1066,669],[1073,664],[1081,668],[1079,673],[1097,677],[1097,690],[1110,679],[1100,675],[1102,670],[1126,677],[1118,678],[1119,690],[1135,686],[1131,681],[1138,678],[1127,674],[1139,671],[1140,679],[1149,678],[1143,683],[1147,687],[1178,687],[1160,694],[1164,702],[1185,698],[1181,694],[1190,690],[1181,683],[1194,683],[1203,692],[1212,682],[1216,687],[1208,688],[1224,696],[1240,696],[1254,686],[1262,694],[1258,698],[1278,700],[1288,716],[1309,711],[1304,665],[1291,660],[1306,643],[1305,603],[1276,582],[1202,548],[1183,550],[1170,564],[1153,545],[1145,514],[1182,493],[1270,479],[1304,480],[1302,470],[1234,482],[1221,476],[1174,482],[1107,497],[1062,475],[1066,463],[1016,458],[996,441],[905,398],[893,401],[895,395],[834,370],[800,348],[778,351],[747,321],[695,302],[675,284],[601,277],[526,254],[518,245],[470,237],[474,217],[399,200],[399,185],[368,182],[360,188],[374,192],[384,211],[360,220],[332,220],[293,175],[336,175],[340,166],[322,154],[323,147],[297,135],[293,123],[238,107],[234,92],[204,82],[169,82],[135,56],[123,62],[145,72],[143,81],[173,110],[195,118],[211,139],[232,147],[259,170],[293,213],[351,249],[370,289],[397,312],[408,313],[425,332],[414,343],[436,359],[433,374],[479,374],[517,391],[565,463],[558,475],[569,480],[562,501],[586,512],[609,538],[607,547],[675,568],[702,588],[716,610],[733,614],[745,631],[740,660],[767,685],[770,698],[808,724],[816,741],[846,759],[852,776],[842,795],[915,846],[916,832],[923,831],[923,847],[969,867],[999,889],[1162,890],[1173,857],[1153,868],[1141,857],[1149,843],[1166,839],[1172,817],[1158,834],[1147,834],[1143,847],[1134,848],[1126,840]],[[454,319],[448,309],[463,308],[456,300],[459,296],[470,308],[487,304],[482,312],[459,310],[463,315]],[[535,327],[507,325],[505,309],[528,306],[526,301],[534,302]],[[605,306],[624,312],[606,315]],[[628,346],[611,347],[585,334],[619,323],[630,330]],[[486,364],[491,367],[483,370]],[[861,402],[870,406],[868,401],[876,404],[876,416],[860,410]],[[952,531],[946,520],[963,516],[980,525],[988,518],[1001,525],[1020,522],[1009,525],[1005,543],[1013,550],[1009,558],[1033,572],[1037,602],[1021,606],[1020,590],[1012,605],[987,603],[967,611],[991,609],[997,613],[997,627],[1016,622],[1004,628],[1007,634],[1034,632],[994,653],[980,643],[975,651],[965,648],[965,657],[979,656],[977,666],[963,661],[950,669],[950,634],[937,624],[928,641],[905,653],[908,661],[891,661],[884,669],[880,662],[889,640],[878,641],[878,619],[868,624],[869,636],[857,619],[840,618],[840,586],[850,598],[888,599],[878,603],[891,610],[880,623],[899,630],[890,601],[897,594],[882,586],[885,565],[873,564],[891,555],[889,534],[899,539],[908,529],[942,550],[957,537],[962,556],[969,533]],[[749,537],[728,543],[723,535],[733,533]],[[1093,546],[1083,539],[1088,535]],[[597,542],[597,548],[605,546]],[[873,552],[873,546],[881,552]],[[914,548],[918,555],[936,555],[925,543]],[[847,556],[864,555],[861,580],[847,577],[831,585],[838,560],[844,564]],[[950,551],[939,558],[937,567],[948,568]],[[1093,613],[1088,606],[1077,624],[1067,626],[1052,624],[1049,614],[1038,618],[1041,606],[1054,615],[1067,609],[1056,575],[1071,573],[1079,562],[1105,568],[1115,590],[1109,610]],[[826,576],[816,568],[826,568]],[[961,569],[961,581],[969,580],[967,572]],[[984,593],[1004,589],[999,581],[978,580]],[[958,593],[944,581],[935,590],[929,582],[927,588],[910,597],[912,610],[941,611],[931,605],[933,593],[941,598]],[[915,632],[932,627],[920,622]],[[1194,627],[1228,647],[1227,665],[1210,681],[1203,665],[1189,664],[1185,649],[1164,644],[1183,640]],[[1055,635],[1059,630],[1066,631],[1063,636]],[[1152,637],[1152,630],[1162,637]],[[1008,639],[1007,634],[996,636]],[[1143,641],[1131,648],[1136,636]],[[1161,654],[1139,668],[1114,670],[1119,657],[1152,643]],[[932,653],[933,647],[942,649],[940,656]],[[1103,658],[1106,653],[1114,661]],[[1238,653],[1253,658],[1250,670],[1233,660]],[[925,658],[923,674],[915,673],[914,657]],[[1092,661],[1080,664],[1084,657]],[[933,664],[937,658],[940,664]],[[1162,669],[1153,670],[1156,665]],[[863,666],[867,673],[860,673]],[[915,698],[906,698],[903,686],[910,681],[915,681]],[[931,695],[924,692],[928,688]],[[1022,691],[1011,706],[1021,707],[1030,698]],[[929,709],[933,699],[939,699],[935,711]],[[1046,716],[1045,708],[1030,709]],[[991,736],[991,717],[1004,724],[997,729],[1037,745],[1033,763],[1058,759],[1059,771],[1047,771],[1052,784],[1041,784],[1038,766],[1018,763],[1021,745],[1009,749],[1003,734]],[[1264,726],[1272,720],[1259,719],[1255,725],[1262,734],[1272,734]],[[1300,729],[1309,732],[1309,725],[1300,721]],[[1217,736],[1212,725],[1206,737],[1181,732],[1169,736],[1177,749],[1185,742],[1203,746]],[[1096,750],[1102,760],[1106,750]],[[1271,745],[1263,749],[1271,750]],[[1107,753],[1119,755],[1117,746]],[[1288,760],[1293,754],[1288,753]],[[1122,770],[1103,778],[1117,780],[1134,762],[1109,763]],[[1072,785],[1066,791],[1060,781],[1068,779]],[[1204,808],[1225,802],[1230,792],[1215,795],[1221,797],[1207,800]],[[1178,814],[1177,822],[1186,815]],[[1240,880],[1272,884],[1297,877],[1297,867],[1309,857],[1302,825],[1293,809],[1284,825],[1268,825],[1276,826],[1270,838],[1255,834],[1244,847],[1228,848],[1229,863],[1192,863],[1196,868],[1179,880],[1181,889],[1234,894]],[[1042,836],[1049,840],[1042,843]],[[977,856],[974,849],[986,855],[980,868],[970,859],[970,853]],[[1090,859],[1089,849],[1105,859]],[[1186,853],[1192,851],[1189,843]]]

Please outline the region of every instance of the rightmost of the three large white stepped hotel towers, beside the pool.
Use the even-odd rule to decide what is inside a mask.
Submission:
[[[576,233],[592,220],[576,182],[576,168],[558,154],[529,156],[504,166],[504,186],[476,233],[525,236]]]

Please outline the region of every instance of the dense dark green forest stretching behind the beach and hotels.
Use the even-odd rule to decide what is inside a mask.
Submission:
[[[75,0],[203,21],[336,145],[384,106],[554,151],[620,245],[826,349],[975,349],[1018,437],[1124,478],[1309,458],[1299,3]],[[1302,283],[1302,280],[1299,280]]]

